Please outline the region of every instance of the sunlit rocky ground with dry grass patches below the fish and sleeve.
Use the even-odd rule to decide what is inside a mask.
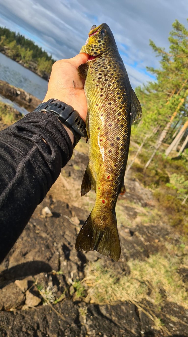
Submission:
[[[79,142],[0,265],[0,337],[187,337],[188,243],[132,170],[116,205],[119,262],[75,250],[95,200],[80,195],[87,151]]]

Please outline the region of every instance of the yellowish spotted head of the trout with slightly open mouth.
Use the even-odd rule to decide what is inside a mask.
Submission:
[[[117,48],[113,34],[106,23],[102,23],[98,27],[93,25],[88,35],[89,37],[80,51],[80,53],[90,55],[88,61],[105,53],[110,48]]]

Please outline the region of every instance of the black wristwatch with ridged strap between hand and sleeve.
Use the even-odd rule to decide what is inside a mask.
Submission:
[[[81,137],[87,137],[86,123],[80,117],[71,105],[59,101],[58,99],[51,98],[47,102],[41,103],[37,106],[34,112],[50,112],[58,117],[58,120],[67,126],[74,135],[75,147]]]

